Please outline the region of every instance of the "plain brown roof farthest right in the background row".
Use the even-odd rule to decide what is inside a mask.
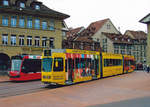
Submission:
[[[147,34],[143,31],[131,31],[127,30],[126,32],[130,32],[134,38],[132,39],[147,39]]]

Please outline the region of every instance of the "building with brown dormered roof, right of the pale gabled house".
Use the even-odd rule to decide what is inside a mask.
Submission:
[[[110,49],[111,53],[127,54],[132,53],[132,39],[127,35],[115,33],[102,33],[105,36],[105,42]]]

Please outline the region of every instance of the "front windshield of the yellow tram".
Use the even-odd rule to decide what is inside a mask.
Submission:
[[[42,61],[42,69],[44,72],[52,71],[52,58],[44,58]]]

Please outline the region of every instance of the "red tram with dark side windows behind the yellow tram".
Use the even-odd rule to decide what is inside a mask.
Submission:
[[[16,55],[11,57],[11,81],[28,81],[41,79],[40,55]]]

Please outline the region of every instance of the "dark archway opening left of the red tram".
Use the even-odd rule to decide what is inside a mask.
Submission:
[[[10,57],[5,53],[0,53],[0,70],[8,70],[10,63]]]

